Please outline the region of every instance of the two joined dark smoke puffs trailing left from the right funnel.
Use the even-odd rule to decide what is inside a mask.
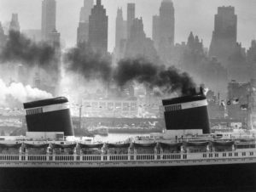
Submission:
[[[155,88],[159,93],[195,93],[195,82],[189,74],[175,67],[166,68],[165,65],[157,65],[143,58],[121,59],[116,67],[112,67],[108,57],[96,54],[85,43],[69,49],[65,54],[65,62],[67,71],[79,73],[87,80],[113,81],[119,87],[135,81]]]

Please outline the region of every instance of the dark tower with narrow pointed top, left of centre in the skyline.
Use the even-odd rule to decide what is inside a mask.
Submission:
[[[96,52],[108,53],[108,16],[101,0],[91,9],[88,41]]]

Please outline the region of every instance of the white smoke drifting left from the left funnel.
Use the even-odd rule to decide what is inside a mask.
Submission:
[[[2,79],[0,79],[0,104],[7,106],[11,99],[16,102],[24,103],[34,99],[49,99],[52,98],[50,93],[42,91],[38,88],[32,88],[29,85],[24,86],[20,82],[12,82],[7,86]],[[11,99],[10,99],[11,98]],[[11,101],[13,103],[13,101]]]

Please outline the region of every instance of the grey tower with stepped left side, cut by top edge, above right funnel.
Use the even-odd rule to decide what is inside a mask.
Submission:
[[[163,0],[160,5],[160,15],[153,16],[153,40],[154,46],[160,54],[160,58],[170,61],[170,55],[174,46],[175,17],[172,0]]]

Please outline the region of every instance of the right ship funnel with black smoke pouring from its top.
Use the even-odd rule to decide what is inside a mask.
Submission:
[[[210,133],[207,98],[198,93],[173,99],[164,99],[166,132],[184,134]]]

